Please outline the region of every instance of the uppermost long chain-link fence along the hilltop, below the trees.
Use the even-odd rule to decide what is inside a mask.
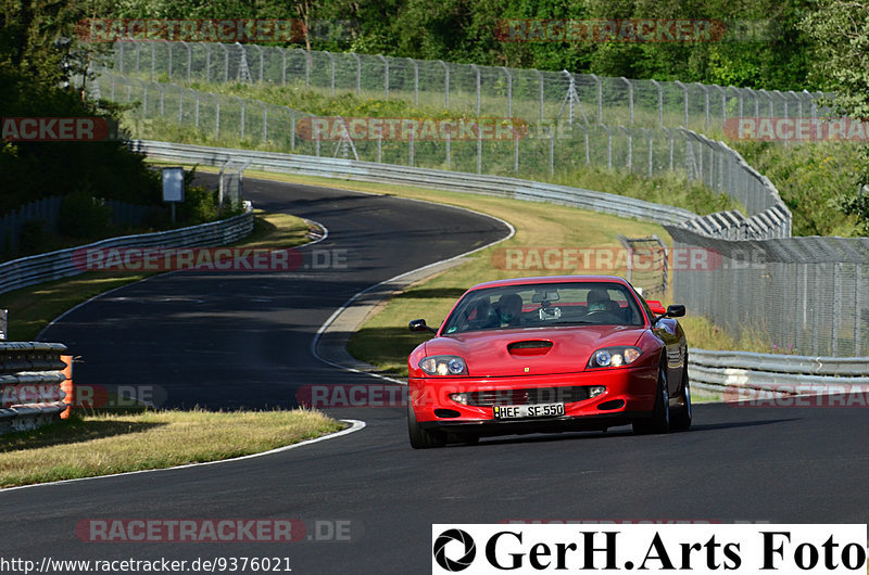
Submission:
[[[820,92],[633,80],[567,71],[478,66],[383,55],[213,42],[117,42],[119,74],[168,81],[304,84],[330,95],[402,99],[417,106],[538,123],[720,131],[728,118],[822,117]]]

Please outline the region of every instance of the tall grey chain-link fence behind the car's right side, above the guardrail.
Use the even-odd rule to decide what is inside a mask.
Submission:
[[[869,238],[731,241],[666,226],[675,250],[707,251],[673,274],[673,299],[734,337],[769,337],[769,350],[810,356],[869,352]]]

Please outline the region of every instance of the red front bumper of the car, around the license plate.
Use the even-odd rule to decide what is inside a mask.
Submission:
[[[411,378],[408,384],[410,399],[420,426],[496,435],[603,429],[630,423],[652,411],[657,376],[657,367],[640,366],[551,375]],[[603,386],[605,391],[595,397],[575,400],[578,389],[592,386]],[[564,403],[565,413],[559,417],[495,419],[491,401],[490,405],[463,405],[450,397],[455,393],[487,397],[498,405],[544,400]]]

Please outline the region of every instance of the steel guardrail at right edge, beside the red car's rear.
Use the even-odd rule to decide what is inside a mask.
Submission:
[[[691,349],[691,384],[697,388],[773,391],[780,394],[869,389],[869,357],[809,357]]]

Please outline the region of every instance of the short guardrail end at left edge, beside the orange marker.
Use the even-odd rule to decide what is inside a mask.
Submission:
[[[65,353],[63,344],[0,343],[0,434],[54,421],[67,408]]]

